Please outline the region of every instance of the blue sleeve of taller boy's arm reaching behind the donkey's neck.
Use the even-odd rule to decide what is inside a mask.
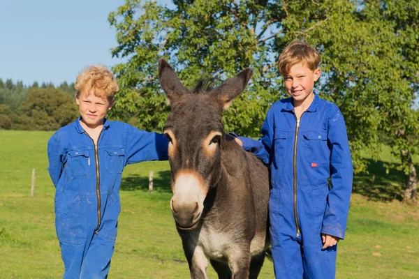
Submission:
[[[274,121],[273,114],[270,110],[267,112],[265,122],[263,123],[260,132],[262,137],[259,140],[249,139],[249,137],[239,137],[243,143],[243,148],[256,155],[265,164],[270,164],[271,150],[274,139]]]

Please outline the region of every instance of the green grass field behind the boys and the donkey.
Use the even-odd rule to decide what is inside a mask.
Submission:
[[[54,186],[47,174],[51,135],[0,130],[0,278],[60,278],[64,271],[54,229]],[[355,177],[337,278],[419,278],[419,210],[399,202],[403,176],[397,171],[385,174],[383,163],[389,160],[384,153],[369,175]],[[33,168],[36,188],[31,197]],[[169,181],[167,162],[124,170],[110,278],[189,278],[170,212]],[[210,278],[216,278],[212,269]],[[271,262],[265,262],[260,278],[274,278]]]

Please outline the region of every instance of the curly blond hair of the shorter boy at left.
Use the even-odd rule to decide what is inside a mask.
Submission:
[[[80,96],[81,92],[89,95],[93,91],[96,97],[108,98],[108,100],[112,100],[119,90],[114,75],[102,65],[84,68],[83,72],[78,75],[74,88],[77,90],[77,96]]]

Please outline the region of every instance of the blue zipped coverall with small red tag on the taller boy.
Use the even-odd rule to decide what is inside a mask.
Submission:
[[[297,121],[287,98],[270,108],[261,132],[240,140],[271,167],[275,277],[335,278],[337,246],[322,250],[321,233],[344,239],[346,230],[353,167],[344,117],[315,94]]]

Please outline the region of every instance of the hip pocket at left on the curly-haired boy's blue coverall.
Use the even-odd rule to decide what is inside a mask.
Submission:
[[[60,206],[56,211],[56,229],[60,242],[70,244],[81,244],[86,240],[86,214],[84,204],[79,195],[65,195],[64,200],[57,202],[66,202],[66,206]]]

